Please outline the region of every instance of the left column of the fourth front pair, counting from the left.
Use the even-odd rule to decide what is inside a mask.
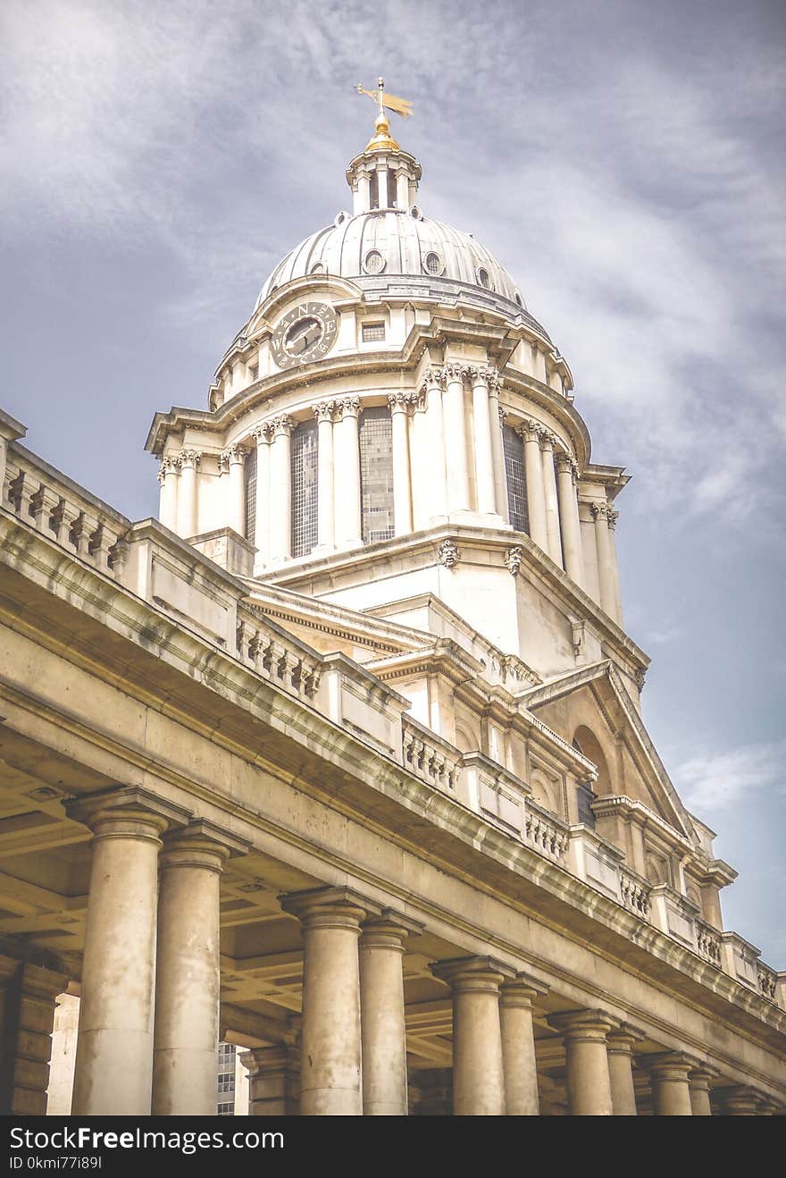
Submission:
[[[617,1025],[602,1011],[552,1014],[562,1032],[567,1060],[567,1099],[572,1117],[611,1117],[612,1088],[606,1035]]]

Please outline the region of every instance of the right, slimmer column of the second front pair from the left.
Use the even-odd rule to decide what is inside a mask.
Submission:
[[[364,924],[360,938],[362,1111],[366,1117],[407,1116],[407,1045],[404,1028],[404,945],[419,931],[395,913]]]

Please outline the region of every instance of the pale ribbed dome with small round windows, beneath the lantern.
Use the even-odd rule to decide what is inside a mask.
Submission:
[[[407,210],[372,209],[339,213],[326,229],[300,243],[269,276],[260,307],[285,283],[308,274],[351,278],[364,290],[392,296],[449,297],[524,311],[524,299],[497,258],[471,233]]]

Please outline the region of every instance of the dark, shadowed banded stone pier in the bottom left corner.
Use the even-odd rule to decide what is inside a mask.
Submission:
[[[44,1117],[56,997],[68,978],[0,955],[0,1108]]]

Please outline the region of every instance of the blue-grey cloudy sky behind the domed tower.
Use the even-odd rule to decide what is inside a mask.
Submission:
[[[617,501],[644,719],[786,968],[786,7],[4,0],[0,408],[133,518],[275,263],[349,207],[382,74],[426,216],[567,358]]]

